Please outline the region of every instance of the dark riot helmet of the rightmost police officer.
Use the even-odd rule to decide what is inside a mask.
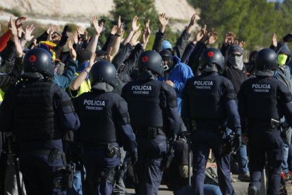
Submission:
[[[276,52],[269,48],[261,49],[255,58],[255,69],[257,71],[276,71]]]

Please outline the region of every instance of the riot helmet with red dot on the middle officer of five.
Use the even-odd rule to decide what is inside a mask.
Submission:
[[[158,52],[155,51],[142,52],[138,59],[138,69],[140,73],[142,71],[151,71],[158,76],[163,76],[164,68],[162,63],[162,57]]]

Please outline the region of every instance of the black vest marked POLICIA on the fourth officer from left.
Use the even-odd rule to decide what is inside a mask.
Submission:
[[[223,76],[217,73],[192,78],[188,85],[192,119],[226,119]]]

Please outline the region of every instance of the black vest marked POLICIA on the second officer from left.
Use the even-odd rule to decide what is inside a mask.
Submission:
[[[94,143],[116,142],[116,102],[114,93],[97,91],[83,93],[77,99],[80,119],[80,141]]]

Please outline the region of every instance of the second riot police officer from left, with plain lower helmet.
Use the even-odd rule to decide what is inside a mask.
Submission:
[[[92,90],[75,100],[80,117],[79,140],[84,150],[86,184],[89,194],[111,194],[116,167],[120,162],[119,144],[137,160],[137,143],[128,116],[128,106],[113,93],[116,69],[109,61],[98,61],[90,70]]]

